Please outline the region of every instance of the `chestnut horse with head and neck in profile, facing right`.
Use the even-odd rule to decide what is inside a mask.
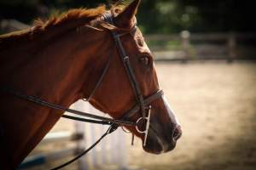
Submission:
[[[136,26],[139,3],[135,0],[125,7],[113,5],[109,10],[105,6],[72,9],[46,21],[37,20],[27,30],[2,35],[0,86],[67,108],[79,99],[88,99],[96,109],[119,119],[137,104],[137,98],[111,32],[118,33],[125,59],[129,59],[134,71],[130,76],[141,91],[139,99],[160,90],[154,56]],[[113,22],[104,20],[104,14],[110,14]],[[101,83],[97,83],[99,79]],[[3,91],[0,96],[0,169],[15,169],[64,111]],[[177,117],[164,95],[151,101],[150,106],[143,150],[152,154],[173,150],[182,134]],[[141,120],[142,110],[129,121]],[[144,122],[141,124],[145,127]],[[137,127],[125,127],[143,142],[146,140]]]

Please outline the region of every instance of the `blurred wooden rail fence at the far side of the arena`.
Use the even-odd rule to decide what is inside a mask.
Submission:
[[[145,39],[158,60],[256,59],[256,33],[182,31],[175,35],[148,35]],[[176,42],[178,45],[172,48],[172,45],[168,45],[169,42]]]

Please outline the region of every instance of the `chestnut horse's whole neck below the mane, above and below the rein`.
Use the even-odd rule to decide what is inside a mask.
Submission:
[[[40,46],[29,48],[24,44],[24,48],[1,51],[0,85],[68,107],[88,96],[96,85],[108,61],[111,45],[108,41],[111,40],[107,32],[70,31],[49,42],[37,42]],[[0,95],[3,143],[11,153],[10,164],[17,166],[54,126],[61,113],[10,94]],[[6,156],[8,152],[1,154]]]

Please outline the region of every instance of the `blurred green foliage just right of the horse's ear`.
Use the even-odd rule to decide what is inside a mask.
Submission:
[[[146,33],[179,32],[201,22],[198,8],[177,0],[143,1],[137,18]]]

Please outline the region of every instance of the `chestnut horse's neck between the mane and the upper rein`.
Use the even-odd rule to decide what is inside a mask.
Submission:
[[[71,105],[90,94],[107,63],[109,40],[106,33],[99,33],[89,28],[69,31],[47,42],[36,42],[36,46],[28,44],[26,51],[9,51],[6,61],[12,60],[14,67],[6,63],[1,84],[59,105]]]

